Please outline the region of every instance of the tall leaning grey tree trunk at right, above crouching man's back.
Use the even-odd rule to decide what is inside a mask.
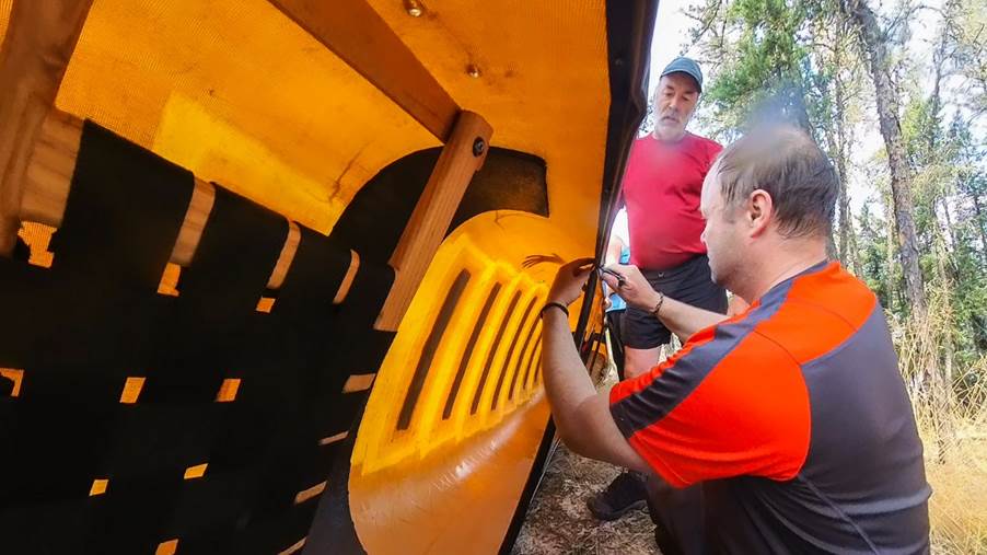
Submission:
[[[891,193],[894,201],[894,220],[898,239],[898,255],[905,277],[905,293],[911,311],[925,319],[925,282],[919,266],[918,239],[915,232],[911,203],[911,176],[905,161],[902,143],[902,126],[898,120],[898,93],[891,80],[887,56],[887,38],[878,26],[874,12],[863,0],[849,0],[849,13],[857,24],[861,45],[868,58],[881,135],[887,150],[887,165],[891,170]]]

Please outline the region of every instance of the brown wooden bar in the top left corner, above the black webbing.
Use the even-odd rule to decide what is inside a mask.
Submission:
[[[0,46],[0,255],[10,256],[27,159],[92,0],[14,0]]]

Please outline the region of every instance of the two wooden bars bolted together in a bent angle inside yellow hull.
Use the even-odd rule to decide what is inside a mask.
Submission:
[[[486,158],[492,129],[455,101],[365,0],[269,0],[333,50],[445,148],[390,264],[394,286],[374,327],[397,331],[473,174]]]

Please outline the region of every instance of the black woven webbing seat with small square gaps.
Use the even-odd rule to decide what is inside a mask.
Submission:
[[[0,259],[0,551],[278,553],[304,537],[338,446],[392,334],[372,329],[394,275],[350,264],[301,230],[270,313],[255,310],[288,232],[283,217],[217,186],[179,296],[158,293],[194,188],[190,173],[88,123],[50,268]],[[347,325],[340,325],[347,322]],[[334,348],[347,342],[347,349]],[[146,379],[120,403],[128,377]],[[218,402],[223,380],[236,396]],[[208,464],[186,479],[186,469]],[[90,496],[94,479],[105,493]]]

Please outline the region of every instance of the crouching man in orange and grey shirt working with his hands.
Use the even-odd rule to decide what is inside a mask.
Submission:
[[[564,266],[543,309],[562,439],[674,487],[701,484],[698,551],[929,550],[922,447],[883,311],[826,262],[836,194],[832,165],[800,130],[764,129],[724,150],[702,187],[702,239],[713,279],[751,308],[724,319],[613,266],[623,285],[607,282],[687,340],[609,392],[594,390],[565,315],[592,261]],[[674,518],[651,509],[657,522]]]

